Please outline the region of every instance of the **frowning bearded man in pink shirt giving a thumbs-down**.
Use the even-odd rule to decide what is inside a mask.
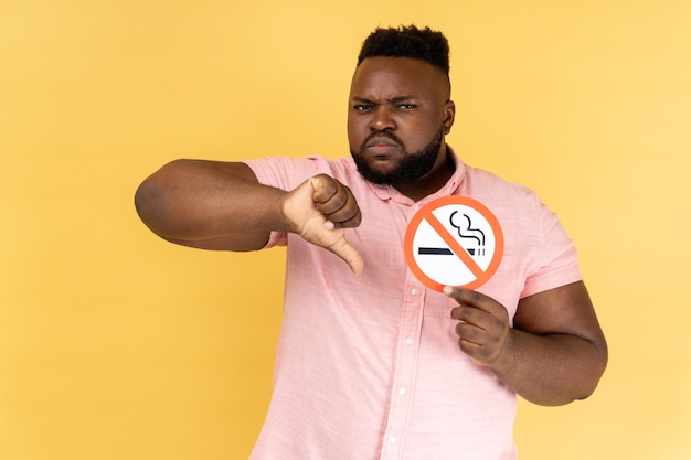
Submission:
[[[373,32],[349,105],[351,157],[178,160],[137,191],[142,220],[170,242],[287,245],[274,396],[252,458],[514,459],[515,395],[585,398],[606,365],[573,244],[531,191],[445,143],[455,106],[442,33]],[[406,266],[407,223],[446,195],[501,224],[503,258],[481,292],[426,289]]]

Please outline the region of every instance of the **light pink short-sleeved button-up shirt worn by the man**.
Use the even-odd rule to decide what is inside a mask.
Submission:
[[[453,154],[453,152],[451,152]],[[515,459],[517,399],[491,371],[459,350],[455,302],[407,268],[403,238],[428,201],[466,195],[497,216],[504,255],[478,290],[512,318],[519,299],[581,279],[572,240],[530,190],[456,159],[436,194],[413,202],[364,181],[350,158],[247,161],[262,183],[291,190],[327,173],[347,184],[362,211],[347,231],[364,259],[346,263],[294,234],[287,244],[284,320],[274,395],[253,460]]]

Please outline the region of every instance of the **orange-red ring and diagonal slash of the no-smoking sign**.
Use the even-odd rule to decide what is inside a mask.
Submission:
[[[495,252],[492,253],[491,259],[486,268],[480,268],[471,258],[470,254],[467,253],[463,246],[456,242],[455,237],[450,235],[448,229],[446,229],[443,224],[440,224],[437,218],[433,215],[435,210],[438,210],[444,206],[449,205],[463,205],[468,206],[478,212],[489,224],[495,239]],[[404,252],[405,259],[411,268],[411,271],[421,280],[425,286],[436,291],[442,292],[444,290],[444,284],[434,280],[430,276],[428,276],[423,268],[417,263],[415,258],[415,235],[419,229],[419,226],[423,222],[427,222],[432,225],[433,229],[449,245],[453,255],[458,257],[460,261],[469,268],[472,275],[475,275],[475,279],[466,282],[464,285],[458,285],[458,287],[466,289],[477,289],[487,282],[497,271],[499,265],[501,264],[501,258],[503,256],[503,233],[501,232],[501,226],[499,225],[499,221],[482,203],[477,200],[472,200],[468,196],[443,196],[440,199],[434,200],[426,205],[424,205],[411,220],[407,229],[405,232],[404,239]]]

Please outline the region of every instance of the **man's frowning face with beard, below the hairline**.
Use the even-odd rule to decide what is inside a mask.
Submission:
[[[364,60],[353,76],[348,110],[350,151],[364,179],[401,185],[432,171],[454,122],[448,98],[446,75],[424,61]]]

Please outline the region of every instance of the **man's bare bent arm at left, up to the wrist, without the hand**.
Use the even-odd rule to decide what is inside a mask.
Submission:
[[[157,235],[189,246],[248,250],[283,231],[284,191],[257,183],[242,163],[177,160],[147,178],[135,202]]]

